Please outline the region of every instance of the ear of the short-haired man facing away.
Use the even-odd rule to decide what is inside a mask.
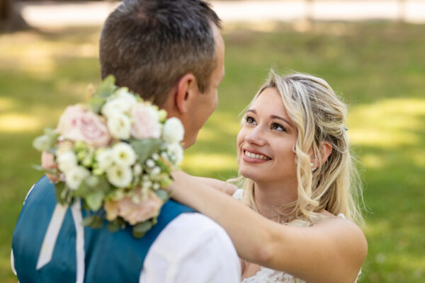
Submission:
[[[177,83],[176,93],[174,94],[176,108],[178,108],[181,113],[186,113],[191,110],[198,93],[199,90],[196,77],[191,73],[182,76]]]

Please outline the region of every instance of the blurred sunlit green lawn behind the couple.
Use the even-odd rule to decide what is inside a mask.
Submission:
[[[268,68],[326,79],[348,103],[348,134],[361,159],[369,253],[359,282],[424,282],[424,25],[316,23],[227,25],[226,76],[216,112],[186,151],[183,168],[237,175],[239,113]],[[13,226],[40,177],[31,141],[65,105],[98,83],[100,28],[0,36],[0,281],[10,271]],[[202,164],[202,166],[200,166]]]

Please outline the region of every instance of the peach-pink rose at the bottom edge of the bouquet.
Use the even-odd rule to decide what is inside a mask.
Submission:
[[[142,195],[140,189],[137,191],[137,195]],[[124,197],[116,202],[106,202],[106,218],[112,221],[117,216],[121,216],[131,225],[135,225],[157,216],[162,204],[162,200],[154,192],[149,192],[147,198],[138,204],[133,202],[130,197]]]

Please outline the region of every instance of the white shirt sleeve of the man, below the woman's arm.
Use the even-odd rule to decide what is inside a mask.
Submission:
[[[240,282],[241,266],[227,233],[207,216],[171,221],[145,258],[140,283]]]

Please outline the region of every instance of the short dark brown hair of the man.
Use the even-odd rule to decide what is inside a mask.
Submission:
[[[203,0],[125,0],[103,25],[102,78],[113,74],[157,105],[187,73],[204,93],[216,67],[212,24],[220,18]]]

